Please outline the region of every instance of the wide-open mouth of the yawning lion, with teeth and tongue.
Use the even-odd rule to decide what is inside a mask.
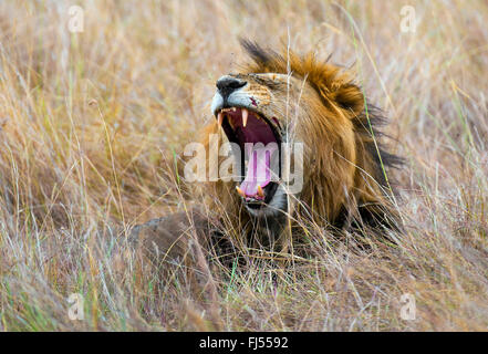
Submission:
[[[245,107],[221,108],[217,119],[229,142],[240,147],[243,175],[240,176],[237,191],[251,208],[269,204],[281,177],[281,138],[278,126],[263,115]]]

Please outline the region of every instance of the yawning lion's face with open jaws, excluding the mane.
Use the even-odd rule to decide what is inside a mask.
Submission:
[[[298,117],[309,110],[299,101],[303,91],[310,96],[310,87],[279,73],[224,75],[216,86],[211,111],[228,140],[239,146],[233,154],[242,163],[236,192],[256,217],[284,211],[282,143],[301,140],[295,135]]]

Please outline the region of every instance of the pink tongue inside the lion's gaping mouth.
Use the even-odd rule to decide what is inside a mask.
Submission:
[[[264,188],[271,181],[270,162],[276,146],[257,147],[249,154],[249,164],[246,178],[240,189],[248,197],[257,197],[258,185]]]

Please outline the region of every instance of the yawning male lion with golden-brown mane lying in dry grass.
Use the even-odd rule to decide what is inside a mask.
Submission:
[[[248,41],[242,46],[252,62],[217,81],[215,122],[205,138],[208,149],[211,136],[219,146],[233,143],[237,178],[207,184],[210,211],[181,212],[135,233],[173,258],[188,250],[191,235],[204,248],[239,243],[282,251],[299,239],[303,220],[332,232],[397,229],[386,173],[401,159],[380,144],[380,110],[346,72],[313,54],[280,55]],[[288,150],[280,148],[283,143]],[[303,174],[293,191],[287,179],[291,162],[294,175]]]

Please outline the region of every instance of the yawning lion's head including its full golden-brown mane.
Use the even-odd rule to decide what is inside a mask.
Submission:
[[[390,223],[394,212],[385,192],[392,191],[385,167],[399,159],[378,142],[381,111],[366,107],[347,72],[318,62],[313,54],[287,52],[287,59],[250,42],[243,46],[255,64],[217,81],[211,104],[216,119],[207,131],[224,132],[240,164],[237,181],[215,185],[220,205],[241,219],[240,199],[268,229],[269,217],[295,211],[341,227],[351,219],[373,227]],[[290,149],[297,143],[303,147],[300,166]],[[291,155],[283,156],[283,150]],[[302,171],[300,191],[290,192],[291,160]],[[280,227],[276,229],[277,235]]]

